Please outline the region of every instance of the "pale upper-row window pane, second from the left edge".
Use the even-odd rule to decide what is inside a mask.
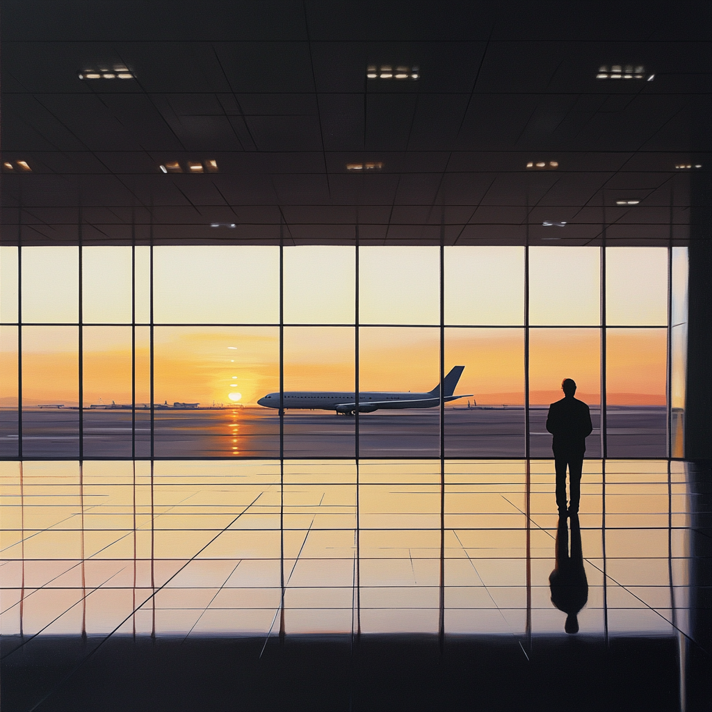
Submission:
[[[79,319],[79,250],[22,248],[22,320],[26,323]]]

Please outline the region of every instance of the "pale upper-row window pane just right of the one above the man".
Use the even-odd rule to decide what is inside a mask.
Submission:
[[[606,248],[606,323],[667,324],[668,251],[664,247]]]

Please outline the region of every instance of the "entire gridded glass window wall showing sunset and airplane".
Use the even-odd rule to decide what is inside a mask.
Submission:
[[[0,258],[3,457],[548,458],[565,377],[588,456],[684,454],[684,247]]]

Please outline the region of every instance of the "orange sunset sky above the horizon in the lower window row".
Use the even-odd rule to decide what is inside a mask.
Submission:
[[[147,328],[137,331],[137,402],[148,402]],[[76,402],[77,337],[75,327],[25,328],[26,404]],[[85,404],[100,399],[130,402],[130,339],[127,327],[85,328]],[[352,328],[285,328],[286,389],[353,389],[354,347]],[[3,354],[4,372],[16,370],[12,352]],[[229,404],[229,393],[239,392],[240,403],[254,403],[278,390],[278,356],[279,331],[274,327],[155,328],[156,402]],[[465,366],[458,393],[474,394],[481,404],[523,403],[522,329],[449,328],[445,361],[446,371],[454,365]],[[609,403],[664,403],[665,371],[664,330],[609,330]],[[438,329],[360,330],[361,389],[427,391],[436,385],[438,376]],[[530,330],[530,402],[547,404],[558,399],[564,377],[575,379],[579,397],[590,403],[600,401],[597,329]],[[4,380],[9,382],[4,398],[16,398],[13,379]]]

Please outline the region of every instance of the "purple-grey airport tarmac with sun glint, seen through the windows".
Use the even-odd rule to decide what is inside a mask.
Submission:
[[[551,457],[545,429],[547,409],[530,410],[530,456]],[[666,409],[662,406],[612,407],[608,411],[609,458],[666,455]],[[587,457],[600,457],[600,417],[592,409],[594,431]],[[377,411],[360,414],[360,457],[440,456],[439,410]],[[287,411],[283,454],[288,458],[354,457],[355,417],[325,411]],[[137,411],[135,439],[127,410],[83,412],[83,455],[92,458],[147,458],[151,451],[150,412]],[[449,458],[520,458],[524,451],[522,408],[446,409],[445,455]],[[79,412],[23,410],[23,458],[76,458]],[[0,457],[18,454],[17,412],[0,410]],[[157,458],[280,456],[280,419],[274,410],[244,407],[210,411],[157,410],[153,429]]]

